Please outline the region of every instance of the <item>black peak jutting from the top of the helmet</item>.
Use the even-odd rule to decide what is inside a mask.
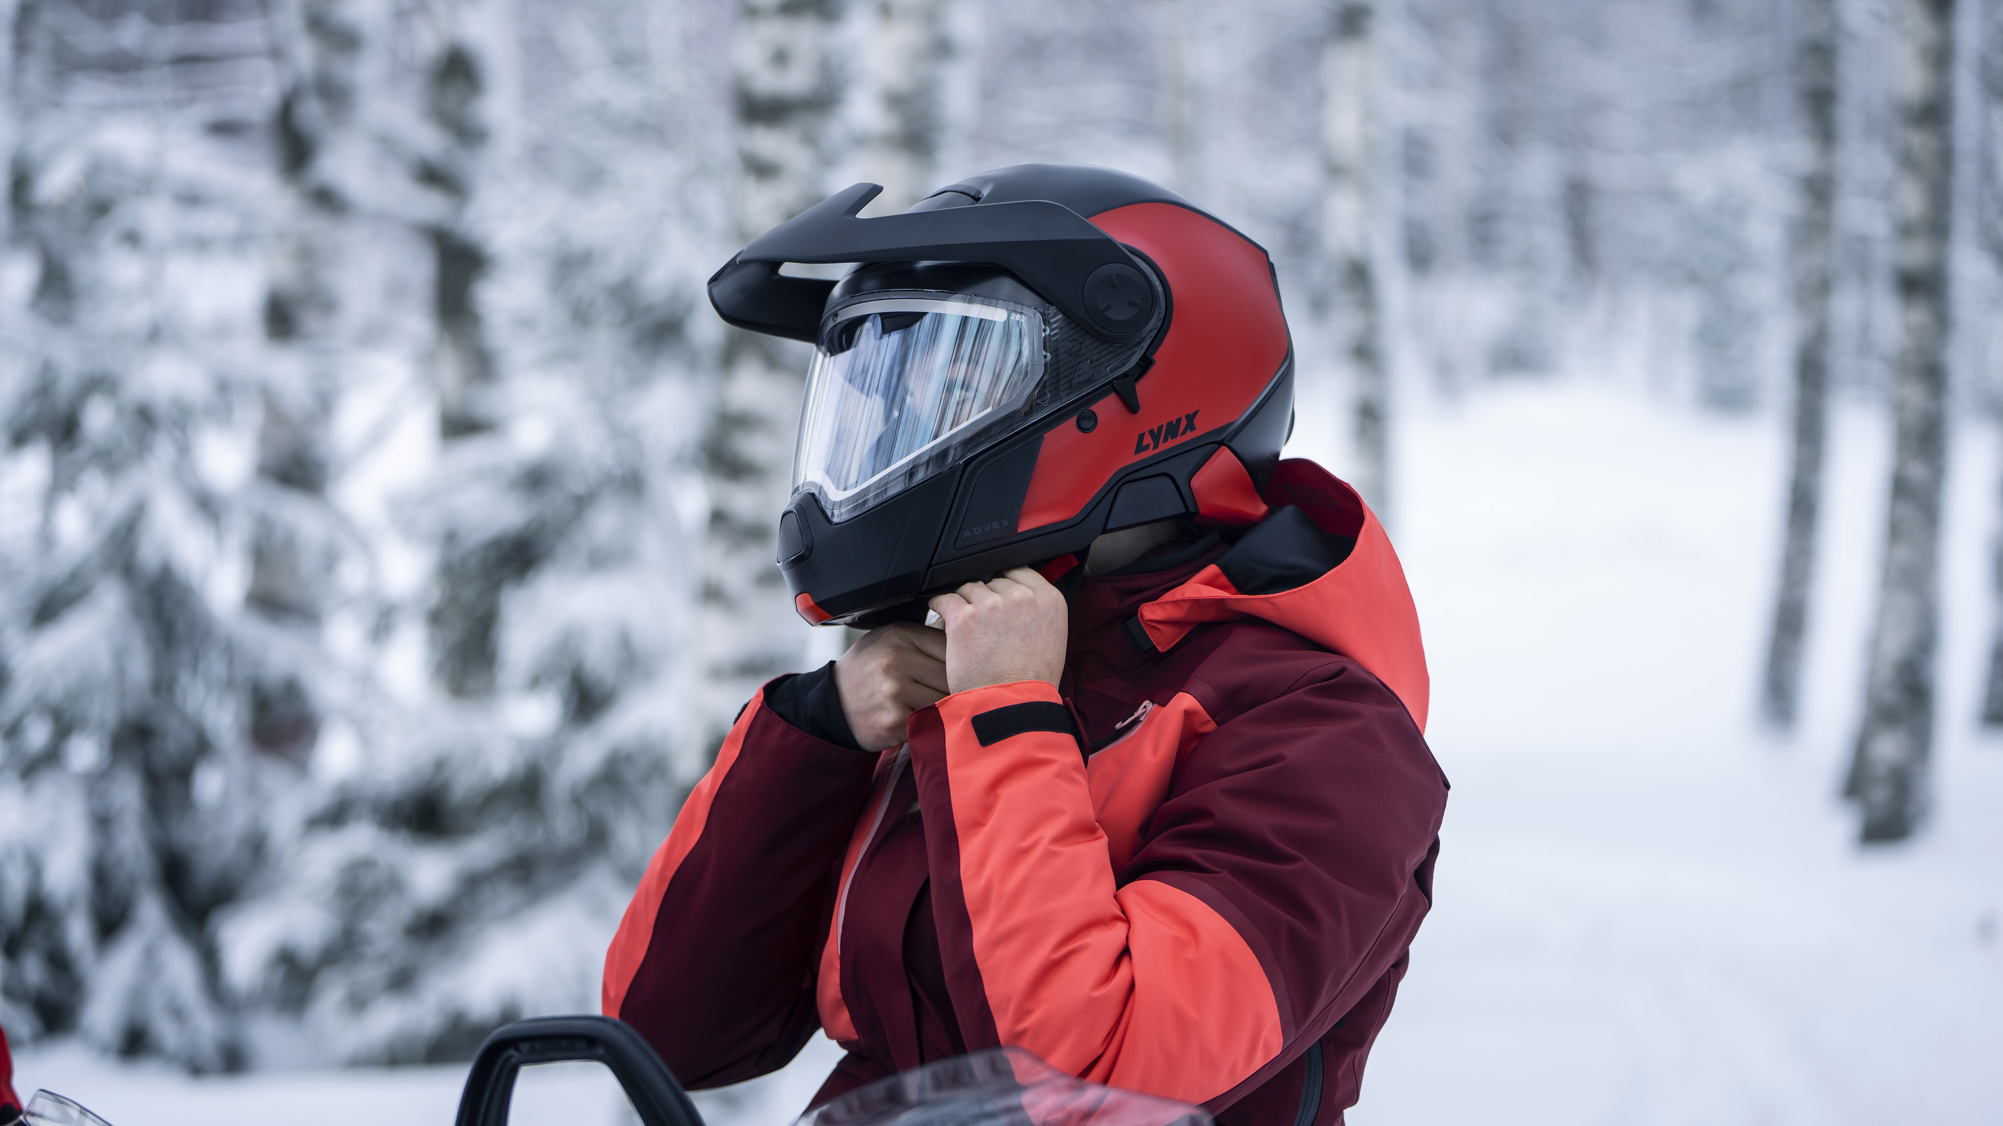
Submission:
[[[853,184],[773,226],[709,278],[709,303],[739,329],[813,341],[835,283],[791,278],[781,262],[989,262],[1022,278],[1114,345],[1142,339],[1160,293],[1148,268],[1076,210],[1050,200],[991,202],[857,218],[883,188]]]

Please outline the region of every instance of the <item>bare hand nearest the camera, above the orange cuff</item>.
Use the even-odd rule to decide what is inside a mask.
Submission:
[[[1012,681],[1058,683],[1070,607],[1028,567],[931,599],[945,625],[945,685],[967,691]]]

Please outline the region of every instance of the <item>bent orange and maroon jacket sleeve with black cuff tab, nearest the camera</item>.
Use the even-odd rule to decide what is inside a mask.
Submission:
[[[945,697],[911,761],[971,1050],[1222,1102],[1326,1034],[1424,916],[1444,779],[1348,663],[1202,737],[1118,872],[1052,685]]]

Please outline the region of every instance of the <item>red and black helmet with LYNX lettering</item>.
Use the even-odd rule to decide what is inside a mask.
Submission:
[[[1266,250],[1084,164],[969,176],[857,218],[855,184],[709,278],[717,313],[815,345],[779,519],[801,617],[925,597],[1170,517],[1240,525],[1280,459],[1294,351]],[[781,262],[859,262],[839,283]]]

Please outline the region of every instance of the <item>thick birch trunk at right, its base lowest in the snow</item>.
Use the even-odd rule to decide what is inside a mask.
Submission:
[[[1927,813],[1947,471],[1947,234],[1953,186],[1953,0],[1899,4],[1899,371],[1885,561],[1865,717],[1845,795],[1865,843],[1905,839]]]

